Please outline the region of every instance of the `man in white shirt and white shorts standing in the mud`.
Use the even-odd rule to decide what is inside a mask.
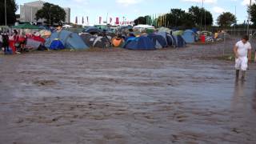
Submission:
[[[251,59],[251,46],[247,35],[234,46],[236,78],[239,78],[239,72],[242,71],[242,81],[245,80],[248,67],[248,58]]]

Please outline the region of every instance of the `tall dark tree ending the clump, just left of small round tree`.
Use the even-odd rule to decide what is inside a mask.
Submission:
[[[192,17],[195,26],[211,26],[214,22],[213,15],[210,11],[205,10],[204,8],[199,8],[198,6],[191,6],[189,14]]]

